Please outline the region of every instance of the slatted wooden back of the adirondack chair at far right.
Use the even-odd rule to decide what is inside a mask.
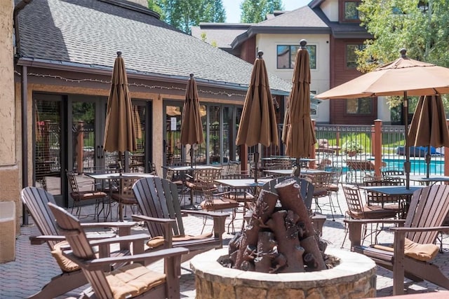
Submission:
[[[415,191],[408,208],[406,228],[422,228],[443,225],[449,212],[449,186],[434,185]],[[430,244],[438,232],[408,232],[406,238],[420,244]]]

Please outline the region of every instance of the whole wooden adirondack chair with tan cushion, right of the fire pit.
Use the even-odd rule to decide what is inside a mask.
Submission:
[[[434,185],[415,191],[410,201],[407,218],[404,220],[345,220],[349,225],[351,250],[372,258],[377,265],[393,271],[393,295],[403,293],[404,277],[413,281],[427,280],[449,289],[449,279],[431,258],[410,257],[415,252],[405,253],[406,238],[424,247],[438,251],[435,242],[438,232],[449,232],[449,227],[441,226],[449,211],[449,186]],[[364,223],[400,223],[403,227],[390,228],[394,232],[394,249],[382,250],[373,246],[361,246],[361,232]],[[415,244],[413,244],[415,246]],[[424,250],[425,252],[426,250]],[[407,255],[406,255],[407,254]]]

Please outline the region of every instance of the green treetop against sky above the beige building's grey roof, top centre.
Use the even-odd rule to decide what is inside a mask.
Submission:
[[[243,0],[240,4],[241,18],[243,23],[258,23],[265,20],[269,13],[282,11],[282,0]]]

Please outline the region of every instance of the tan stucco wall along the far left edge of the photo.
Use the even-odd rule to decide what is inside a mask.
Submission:
[[[20,174],[16,153],[14,102],[13,1],[0,0],[0,202],[14,201],[16,224],[22,213],[19,201]],[[20,230],[16,230],[20,232]]]

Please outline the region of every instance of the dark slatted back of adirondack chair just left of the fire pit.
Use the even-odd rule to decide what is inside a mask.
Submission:
[[[142,214],[156,218],[176,219],[177,223],[173,225],[173,235],[185,234],[175,183],[154,176],[138,180],[133,186],[133,191],[142,209]],[[153,200],[147,200],[148,198]],[[163,235],[163,229],[159,223],[152,221],[147,221],[147,223],[149,234],[152,237]]]

